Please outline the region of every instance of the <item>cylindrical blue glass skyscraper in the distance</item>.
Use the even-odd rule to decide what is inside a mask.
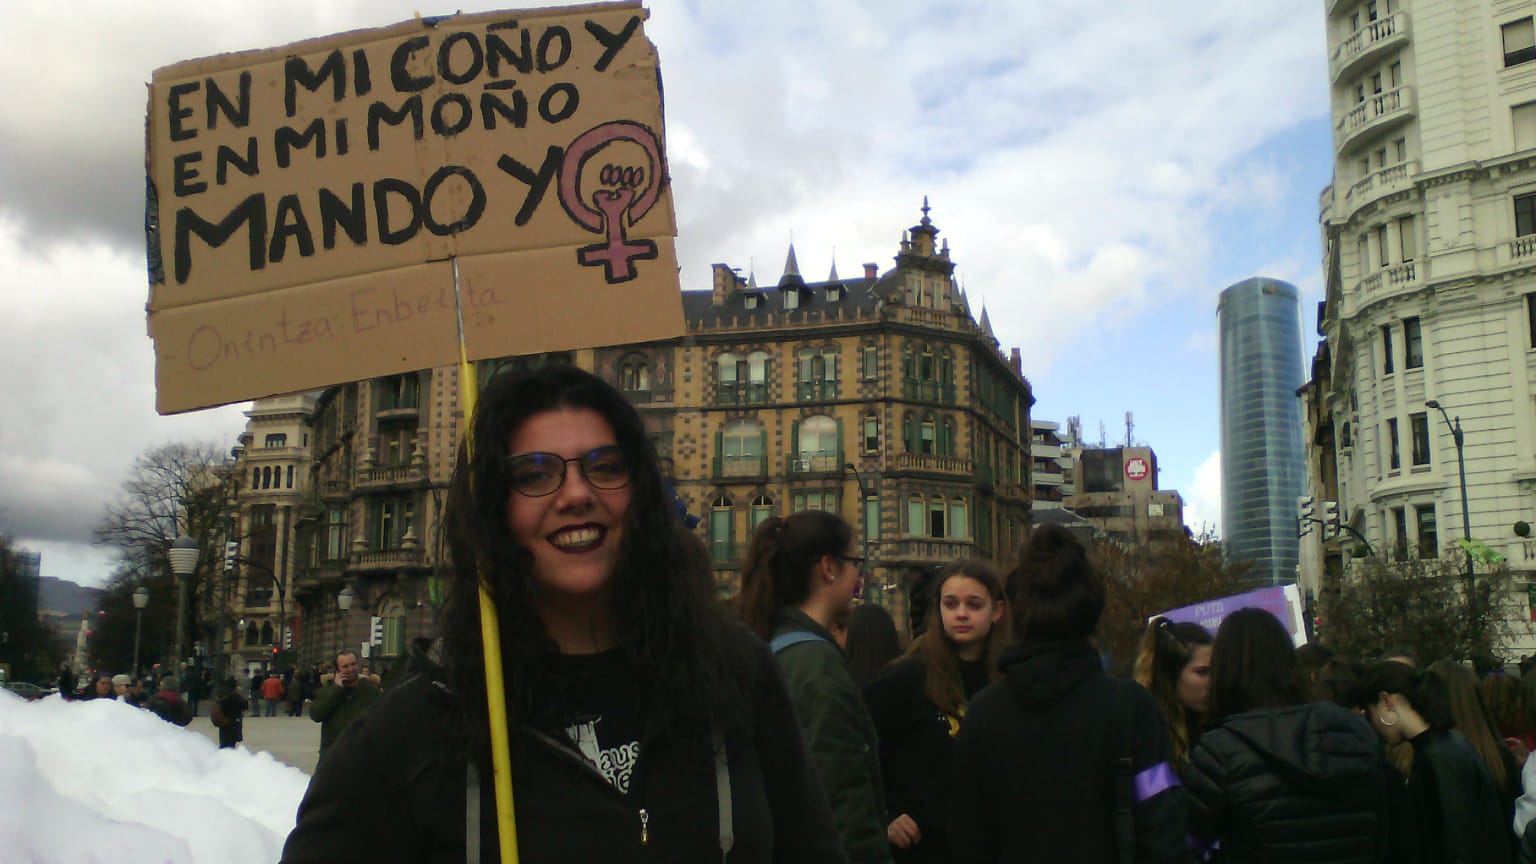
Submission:
[[[1221,529],[1227,555],[1267,584],[1296,580],[1303,493],[1301,306],[1296,286],[1247,278],[1217,303],[1221,351]]]

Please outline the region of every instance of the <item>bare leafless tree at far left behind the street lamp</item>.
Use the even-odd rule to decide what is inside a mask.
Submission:
[[[215,444],[172,443],[146,450],[134,461],[118,498],[108,506],[95,541],[118,549],[118,577],[137,586],[167,575],[170,541],[190,537],[200,555],[186,592],[198,596],[223,555],[221,538],[235,512],[237,483],[238,477],[226,470],[224,454]],[[198,632],[195,606],[189,604],[184,612],[177,632]],[[170,649],[174,656],[186,656],[186,644]]]

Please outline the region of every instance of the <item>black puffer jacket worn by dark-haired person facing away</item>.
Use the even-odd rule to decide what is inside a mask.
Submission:
[[[1200,736],[1189,830],[1224,861],[1381,861],[1387,789],[1376,735],[1333,704],[1227,716]]]

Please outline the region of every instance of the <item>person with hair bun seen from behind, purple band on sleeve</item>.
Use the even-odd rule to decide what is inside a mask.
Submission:
[[[1192,861],[1157,701],[1089,644],[1104,583],[1087,550],[1041,526],[1006,586],[1014,646],[955,739],[949,859]]]

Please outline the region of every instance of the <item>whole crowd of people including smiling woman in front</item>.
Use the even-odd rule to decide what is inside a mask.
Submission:
[[[528,862],[1536,861],[1516,670],[1298,650],[1244,609],[1154,620],[1117,676],[1103,577],[1055,526],[949,564],[897,627],[845,520],[771,517],[720,603],[622,394],[550,364],[479,400],[439,636],[382,689],[338,658],[284,862],[496,861],[493,700]]]

